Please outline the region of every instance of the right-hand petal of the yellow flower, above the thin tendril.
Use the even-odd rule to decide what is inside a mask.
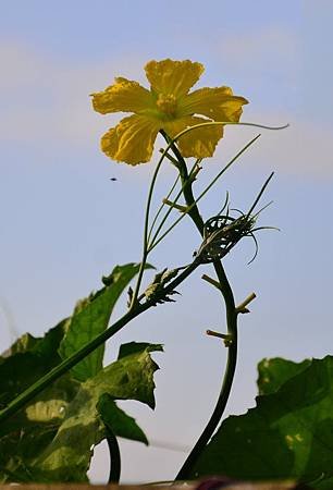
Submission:
[[[230,87],[199,88],[180,101],[180,112],[202,114],[214,121],[239,121],[244,97],[234,96]]]

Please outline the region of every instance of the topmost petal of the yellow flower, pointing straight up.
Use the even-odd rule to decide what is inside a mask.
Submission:
[[[157,94],[185,95],[203,73],[201,63],[189,60],[173,61],[149,61],[145,71],[151,89]]]

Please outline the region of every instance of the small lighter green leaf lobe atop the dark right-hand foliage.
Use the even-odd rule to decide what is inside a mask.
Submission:
[[[304,371],[310,364],[310,359],[305,359],[301,363],[294,363],[281,357],[262,359],[258,365],[259,394],[274,393],[283,383]]]

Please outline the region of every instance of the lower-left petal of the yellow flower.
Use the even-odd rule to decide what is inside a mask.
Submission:
[[[109,130],[101,138],[101,149],[112,160],[131,166],[149,161],[160,127],[144,115],[130,115]]]

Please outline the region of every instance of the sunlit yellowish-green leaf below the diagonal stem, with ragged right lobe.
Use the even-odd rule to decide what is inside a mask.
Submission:
[[[29,466],[35,482],[86,481],[94,446],[104,437],[104,425],[97,411],[104,393],[113,400],[137,400],[155,406],[153,372],[158,366],[150,352],[162,347],[140,345],[140,351],[112,363],[81,384],[55,437]]]

